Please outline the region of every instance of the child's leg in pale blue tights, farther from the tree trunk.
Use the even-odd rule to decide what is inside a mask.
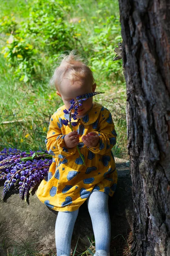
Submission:
[[[55,226],[57,256],[70,256],[71,237],[78,212],[79,209],[74,212],[58,212]]]

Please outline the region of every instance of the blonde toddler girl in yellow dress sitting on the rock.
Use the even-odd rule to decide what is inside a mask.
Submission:
[[[48,207],[59,211],[55,226],[57,256],[70,256],[71,236],[79,207],[85,201],[94,230],[95,256],[109,256],[111,223],[108,195],[113,196],[117,172],[111,148],[116,143],[116,131],[110,111],[88,98],[78,108],[77,126],[71,131],[62,119],[70,101],[96,89],[90,68],[74,51],[63,56],[51,82],[64,105],[51,116],[47,138],[48,152],[53,155],[46,177],[40,183],[37,196]],[[85,159],[85,165],[77,151]]]

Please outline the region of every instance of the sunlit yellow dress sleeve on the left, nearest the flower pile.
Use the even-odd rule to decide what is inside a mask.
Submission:
[[[64,142],[65,134],[62,134],[61,131],[61,120],[57,113],[51,116],[45,143],[49,154],[63,159],[75,154],[76,146],[74,148],[66,148]]]

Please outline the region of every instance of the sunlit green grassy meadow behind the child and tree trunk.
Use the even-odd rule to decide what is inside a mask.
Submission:
[[[43,0],[39,1],[42,4],[45,3]],[[69,29],[66,37],[71,35],[71,39],[69,44],[67,39],[63,39],[63,42],[59,41],[61,47],[54,50],[53,47],[57,43],[54,43],[51,48],[47,43],[48,38],[43,42],[43,33],[28,34],[28,26],[31,26],[32,19],[30,15],[37,2],[33,0],[28,0],[28,3],[25,0],[0,2],[0,95],[2,95],[0,150],[4,147],[38,150],[39,146],[45,149],[44,140],[50,116],[59,105],[62,105],[54,88],[48,87],[48,82],[52,75],[52,67],[56,64],[55,58],[62,53],[63,49],[70,47],[70,49],[77,49],[79,54],[88,59],[96,79],[96,90],[105,91],[105,94],[95,96],[94,100],[102,103],[113,115],[118,134],[117,144],[113,149],[114,155],[128,159],[125,120],[126,88],[122,60],[113,62],[114,47],[122,40],[118,1],[55,1],[58,4],[57,8],[62,12],[62,20]],[[44,5],[43,8],[48,6]],[[4,20],[7,20],[6,24]],[[49,32],[52,31],[52,25],[51,28],[47,28],[43,22],[42,24],[44,26],[42,32],[47,29]],[[17,32],[17,29],[20,32]],[[25,64],[25,60],[9,58],[9,55],[5,55],[6,50],[14,50],[10,48],[12,44],[8,42],[11,35],[23,38],[26,43],[33,46],[34,52],[29,60],[32,61],[33,58],[34,60],[27,70],[20,67],[21,63]]]

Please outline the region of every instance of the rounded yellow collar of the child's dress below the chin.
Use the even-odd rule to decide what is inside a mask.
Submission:
[[[65,109],[65,105],[58,108],[57,113],[58,113],[60,118],[68,119],[68,114],[65,114],[63,112],[64,109]],[[77,118],[76,120],[73,120],[73,121],[78,122],[78,120],[80,119],[84,125],[91,125],[94,122],[96,122],[96,120],[98,119],[101,109],[102,109],[102,105],[100,105],[97,102],[94,102],[93,108],[91,108],[90,111],[85,116],[83,116],[81,118]]]

